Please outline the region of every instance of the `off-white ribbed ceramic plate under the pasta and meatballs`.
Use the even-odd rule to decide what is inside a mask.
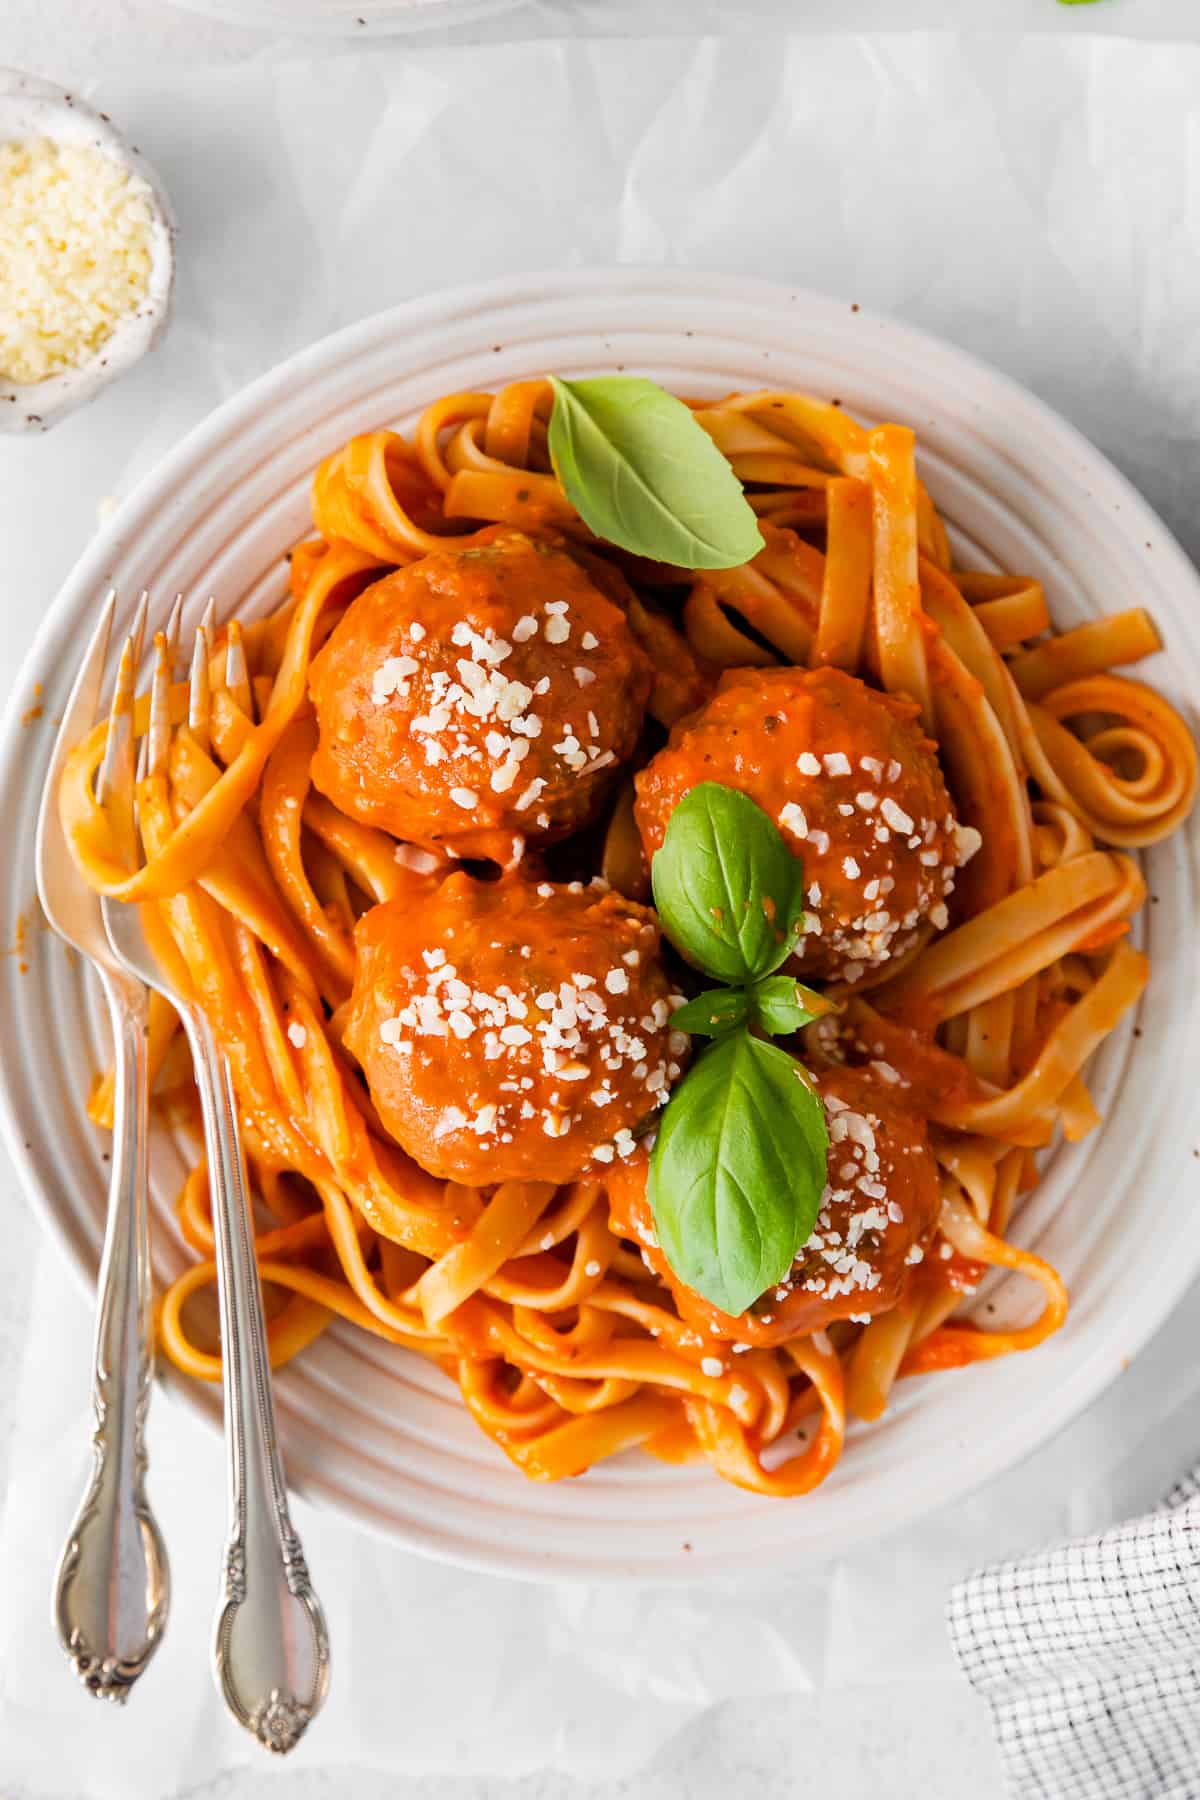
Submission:
[[[198,610],[261,612],[284,592],[284,551],[306,531],[313,464],[353,432],[403,427],[437,394],[547,369],[621,365],[687,394],[801,387],[918,430],[925,477],[972,558],[1031,571],[1052,614],[1150,607],[1168,643],[1146,679],[1187,716],[1200,695],[1200,581],[1128,482],[1011,382],[905,326],[756,281],[693,272],[551,274],[399,306],[255,382],[194,430],[126,502],[59,594],[14,693],[43,682],[32,740],[16,702],[0,738],[0,931],[34,891],[34,817],[54,713],[85,626],[112,578],[128,619],[149,587]],[[525,1481],[471,1424],[457,1390],[419,1357],[333,1328],[279,1377],[290,1478],[428,1555],[495,1571],[579,1579],[694,1579],[775,1570],[871,1543],[1006,1469],[1110,1382],[1200,1269],[1195,1069],[1200,976],[1196,821],[1146,857],[1144,943],[1153,977],[1090,1082],[1105,1127],[1058,1148],[1016,1235],[1074,1291],[1067,1327],[1024,1357],[901,1384],[887,1417],[855,1431],[815,1494],[766,1501],[707,1467],[644,1456],[578,1481]],[[83,1112],[108,1057],[81,970],[45,932],[29,974],[0,959],[0,1111],[40,1213],[90,1283],[101,1244],[103,1138]],[[158,1280],[189,1262],[173,1224],[184,1163],[153,1148]],[[991,1298],[991,1296],[988,1296]],[[1027,1305],[1020,1283],[995,1301]],[[990,1316],[988,1321],[995,1321]],[[173,1382],[214,1422],[219,1395]]]

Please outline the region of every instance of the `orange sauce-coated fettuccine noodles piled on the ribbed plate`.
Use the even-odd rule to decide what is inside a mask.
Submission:
[[[230,1057],[275,1363],[345,1319],[443,1368],[534,1480],[642,1447],[703,1460],[759,1494],[804,1494],[835,1467],[847,1417],[878,1418],[900,1377],[1025,1350],[1063,1323],[1063,1283],[1007,1229],[1036,1183],[1033,1152],[1097,1121],[1087,1060],[1150,974],[1128,941],[1146,898],[1130,851],[1186,817],[1196,754],[1177,713],[1117,673],[1159,648],[1144,612],[1052,635],[1036,580],[952,565],[910,430],[867,430],[792,392],[696,405],[747,484],[763,551],[691,574],[594,540],[552,473],[549,407],[545,382],[452,394],[410,441],[378,430],[329,455],[286,603],[232,621],[214,646],[210,731],[189,729],[187,688],[173,693],[169,778],[140,790],[144,868],[126,873],[95,799],[103,727],[68,761],[63,821],[92,886],[142,907]],[[936,1238],[901,1300],[865,1323],[712,1357],[628,1233],[644,1150],[567,1184],[435,1179],[389,1136],[358,1076],[344,1044],[354,922],[435,859],[398,855],[385,830],[313,788],[308,671],[369,583],[446,542],[486,542],[495,526],[565,538],[619,580],[658,727],[730,668],[844,670],[916,702],[959,815],[981,826],[948,929],[925,923],[912,950],[835,986],[840,1015],[806,1037],[820,1069],[851,1031],[903,1075],[932,1132]],[[646,898],[628,783],[592,866]],[[158,1001],[149,1058],[160,1102],[189,1116],[175,1019]],[[112,1118],[110,1076],[92,1116]],[[178,1224],[198,1260],[160,1300],[160,1341],[180,1370],[216,1381],[203,1161]],[[963,1314],[988,1271],[1031,1283],[1033,1323],[991,1332]]]

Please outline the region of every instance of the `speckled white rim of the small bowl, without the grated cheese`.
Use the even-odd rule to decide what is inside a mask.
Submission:
[[[85,407],[119,374],[131,369],[157,342],[171,315],[175,286],[175,216],[162,182],[146,158],[124,140],[112,119],[74,94],[38,76],[0,68],[0,142],[49,137],[56,144],[101,149],[149,189],[151,265],[146,299],[104,338],[88,362],[45,382],[5,382],[0,376],[0,430],[45,432]]]

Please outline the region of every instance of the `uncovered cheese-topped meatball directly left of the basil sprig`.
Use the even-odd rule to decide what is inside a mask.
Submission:
[[[345,1042],[432,1175],[572,1181],[633,1154],[687,1039],[653,913],[615,893],[464,871],[356,929]]]

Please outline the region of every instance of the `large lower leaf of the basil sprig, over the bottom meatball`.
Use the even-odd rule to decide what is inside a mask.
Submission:
[[[799,1062],[748,1031],[711,1044],[671,1094],[649,1163],[680,1282],[732,1316],[781,1282],[817,1222],[828,1150]]]

